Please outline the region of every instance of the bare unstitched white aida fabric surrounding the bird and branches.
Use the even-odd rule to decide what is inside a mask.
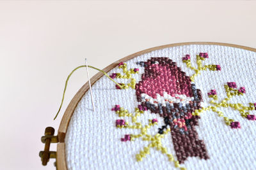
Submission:
[[[256,103],[255,52],[219,45],[182,45],[146,53],[125,63],[128,69],[140,69],[139,74],[132,74],[132,78],[135,78],[137,83],[141,81],[144,67],[136,62],[147,61],[151,57],[169,57],[187,76],[192,76],[195,71],[182,62],[182,57],[189,54],[191,64],[196,66],[196,55],[200,52],[207,52],[209,55],[208,59],[202,61],[203,65],[221,66],[221,71],[200,71],[200,74],[195,77],[196,89],[202,92],[201,106],[210,105],[211,99],[207,93],[212,89],[216,90],[219,99],[227,97],[224,89],[227,82],[236,82],[237,88],[246,89],[244,95],[232,97],[230,103],[241,103],[244,106],[248,106],[248,103]],[[115,67],[108,74],[112,73],[122,73],[122,69]],[[115,80],[120,83],[130,81],[122,78]],[[92,111],[90,93],[86,92],[68,125],[65,138],[68,169],[179,169],[156,148],[150,148],[150,154],[138,162],[136,154],[148,145],[148,141],[142,139],[121,141],[125,134],[138,134],[139,130],[116,128],[116,120],[122,117],[118,117],[111,108],[119,104],[120,107],[134,113],[134,108],[139,104],[135,89],[116,89],[115,83],[103,76],[92,86],[92,92],[95,103],[97,103],[95,111]],[[199,125],[195,128],[198,138],[204,141],[209,159],[188,157],[183,164],[180,164],[180,167],[186,167],[186,169],[255,169],[256,120],[241,117],[239,111],[232,108],[218,108],[218,110],[228,118],[239,122],[241,129],[232,129],[225,124],[223,118],[218,117],[218,114],[211,110],[200,113]],[[250,111],[250,115],[255,114],[255,110]],[[157,134],[158,128],[164,125],[163,117],[151,113],[150,110],[138,117],[138,122],[143,125],[148,124],[148,119],[153,118],[157,118],[158,125],[150,128],[148,134]],[[168,132],[161,141],[167,152],[172,153],[174,159],[177,160],[172,134]]]

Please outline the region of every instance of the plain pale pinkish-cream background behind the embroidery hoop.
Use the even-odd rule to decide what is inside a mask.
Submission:
[[[170,43],[256,48],[255,9],[256,1],[0,1],[0,169],[54,169],[54,160],[41,166],[40,138],[47,126],[58,130],[67,104],[86,83],[85,69],[70,78],[53,121],[65,79],[85,57],[103,69]]]

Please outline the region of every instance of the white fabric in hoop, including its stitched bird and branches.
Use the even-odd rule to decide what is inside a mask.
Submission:
[[[182,45],[121,63],[108,74],[127,89],[102,76],[95,111],[90,92],[77,104],[68,169],[255,169],[255,59],[240,48]]]

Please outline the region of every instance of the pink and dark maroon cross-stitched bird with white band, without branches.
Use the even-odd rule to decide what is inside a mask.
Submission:
[[[138,62],[145,67],[141,81],[136,84],[138,102],[152,113],[164,118],[164,129],[171,128],[172,141],[180,163],[188,157],[208,159],[204,142],[198,139],[195,125],[198,116],[192,113],[200,109],[201,91],[195,88],[189,76],[167,57],[154,57]]]

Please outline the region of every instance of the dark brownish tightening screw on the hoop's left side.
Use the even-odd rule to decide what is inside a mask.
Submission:
[[[39,157],[41,157],[42,165],[46,166],[50,158],[56,159],[56,152],[49,151],[51,143],[58,143],[58,137],[54,136],[54,128],[46,127],[44,135],[41,138],[42,143],[45,143],[44,151],[39,152]]]

